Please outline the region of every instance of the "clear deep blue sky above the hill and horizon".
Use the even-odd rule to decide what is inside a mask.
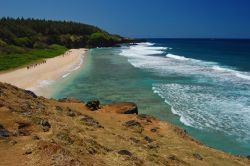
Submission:
[[[0,0],[0,16],[79,21],[128,37],[250,38],[250,0]]]

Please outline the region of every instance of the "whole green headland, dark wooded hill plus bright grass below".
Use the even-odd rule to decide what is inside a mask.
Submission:
[[[70,48],[110,47],[131,41],[82,23],[4,17],[0,19],[0,71],[54,57]]]

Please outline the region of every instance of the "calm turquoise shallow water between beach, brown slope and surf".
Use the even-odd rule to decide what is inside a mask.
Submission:
[[[151,73],[151,68],[149,72],[148,69],[135,69],[134,66],[131,65],[131,62],[127,60],[127,57],[119,56],[119,53],[123,50],[128,51],[126,48],[122,48],[122,50],[121,48],[92,49],[89,52],[91,56],[87,57],[88,60],[86,66],[83,67],[83,70],[78,70],[76,72],[78,74],[76,74],[74,78],[77,79],[71,79],[70,81],[67,79],[63,86],[60,82],[60,89],[55,90],[56,93],[53,97],[56,99],[73,97],[81,101],[90,101],[97,98],[103,104],[123,101],[135,102],[141,110],[140,113],[149,114],[160,118],[163,121],[167,121],[173,125],[179,126],[180,128],[185,129],[193,138],[204,143],[206,146],[234,155],[249,155],[249,146],[245,142],[236,140],[235,138],[237,135],[228,136],[227,133],[223,131],[218,133],[211,130],[201,130],[184,124],[182,122],[183,119],[180,119],[180,117],[175,115],[173,110],[171,110],[171,103],[167,104],[165,98],[159,97],[158,94],[153,93],[154,89],[152,89],[152,87],[159,88],[159,86],[156,86],[157,84],[152,84],[159,82],[158,73]],[[140,51],[140,53],[142,53],[142,51]],[[128,52],[128,55],[133,54],[132,52]],[[131,59],[133,60],[135,57],[136,56],[133,56]],[[150,58],[150,56],[145,55],[146,60],[139,58],[138,61],[132,62],[137,62],[138,65],[141,65],[141,63],[148,64],[150,60],[152,62],[153,60],[159,60],[159,65],[161,64],[160,60],[164,62],[164,57],[162,59],[160,57]],[[180,60],[179,63],[186,63],[186,61]],[[153,65],[155,64],[153,63]],[[173,80],[172,76],[167,75],[164,77],[164,79],[160,79],[166,83],[168,83],[168,81],[170,81],[170,83],[171,81],[175,81]],[[175,89],[176,92],[179,92],[179,90],[181,90],[181,88]],[[185,99],[189,98],[190,97],[187,94]],[[183,106],[183,108],[186,107]],[[230,133],[230,131],[228,133]]]

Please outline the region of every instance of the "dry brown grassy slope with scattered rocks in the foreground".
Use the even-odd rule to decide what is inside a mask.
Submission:
[[[135,103],[46,99],[0,83],[0,165],[250,165]]]

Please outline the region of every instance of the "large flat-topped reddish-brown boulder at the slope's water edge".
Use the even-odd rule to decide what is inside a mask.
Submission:
[[[138,114],[138,107],[132,102],[122,102],[106,105],[99,111],[117,114]]]

